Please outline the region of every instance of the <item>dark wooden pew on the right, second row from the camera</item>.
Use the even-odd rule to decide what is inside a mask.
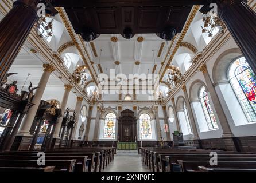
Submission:
[[[199,166],[207,168],[256,169],[256,161],[218,161],[218,165],[211,166],[209,161],[183,161],[178,160],[183,172],[188,170],[199,171]]]

